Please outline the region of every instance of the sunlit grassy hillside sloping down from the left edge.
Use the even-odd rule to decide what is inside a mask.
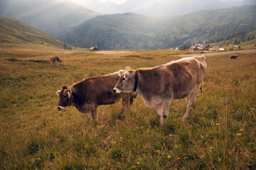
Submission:
[[[0,48],[71,50],[74,48],[13,18],[0,17]]]

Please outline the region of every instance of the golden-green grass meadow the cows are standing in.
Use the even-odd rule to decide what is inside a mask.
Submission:
[[[0,50],[0,169],[256,169],[256,54],[207,56],[203,94],[186,123],[174,100],[164,129],[137,96],[99,106],[89,125],[74,106],[57,111],[63,85],[177,60],[171,50],[95,52]],[[61,64],[51,65],[50,57]],[[149,82],[150,83],[150,82]]]

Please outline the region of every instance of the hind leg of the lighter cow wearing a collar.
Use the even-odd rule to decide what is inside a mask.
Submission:
[[[186,97],[187,108],[182,121],[185,121],[188,118],[188,115],[191,112],[191,108],[193,107],[193,103],[195,103],[196,101],[196,96],[198,95],[198,91],[200,87],[201,87],[201,84],[196,86],[196,88],[192,91],[192,93],[188,97]]]

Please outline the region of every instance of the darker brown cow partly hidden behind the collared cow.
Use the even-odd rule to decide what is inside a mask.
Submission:
[[[137,93],[115,94],[113,88],[118,79],[118,72],[115,72],[85,79],[70,87],[63,86],[61,91],[57,91],[57,95],[60,96],[58,111],[67,106],[75,106],[78,111],[86,113],[91,122],[92,118],[97,118],[97,106],[116,103],[122,98],[122,112],[128,113]]]

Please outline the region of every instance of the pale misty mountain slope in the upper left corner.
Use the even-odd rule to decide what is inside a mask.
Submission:
[[[0,16],[16,18],[49,35],[58,35],[83,21],[100,15],[72,1],[1,0]]]

